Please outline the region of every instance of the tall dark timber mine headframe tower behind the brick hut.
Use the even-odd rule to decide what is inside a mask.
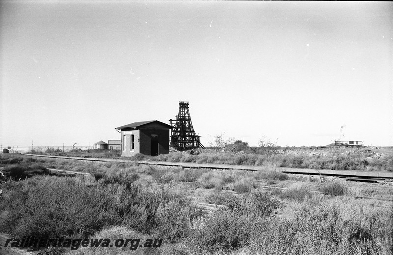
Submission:
[[[176,117],[176,123],[173,125],[170,119],[172,129],[170,145],[179,151],[191,150],[195,148],[204,148],[200,143],[200,135],[196,135],[193,124],[191,123],[190,112],[188,111],[188,101],[179,102],[179,114]]]

